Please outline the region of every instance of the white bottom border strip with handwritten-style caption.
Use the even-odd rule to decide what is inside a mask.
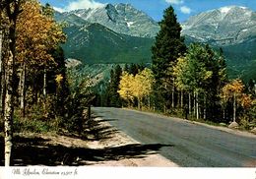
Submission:
[[[0,179],[256,179],[256,168],[1,167]]]

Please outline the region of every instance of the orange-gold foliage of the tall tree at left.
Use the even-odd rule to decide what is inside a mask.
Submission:
[[[53,17],[42,14],[41,6],[35,0],[23,3],[22,9],[17,22],[17,59],[37,65],[52,60],[48,51],[65,41],[61,27]]]

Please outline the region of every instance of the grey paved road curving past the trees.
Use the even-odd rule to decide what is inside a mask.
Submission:
[[[142,144],[171,145],[160,154],[182,167],[256,166],[256,137],[145,112],[101,107],[93,111]]]

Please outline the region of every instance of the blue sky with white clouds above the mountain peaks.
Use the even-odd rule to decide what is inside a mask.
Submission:
[[[40,2],[42,4],[48,2],[56,8],[66,11],[86,7],[93,8],[106,3],[130,3],[156,21],[160,21],[163,10],[169,5],[174,7],[180,22],[184,22],[192,15],[223,6],[244,6],[256,11],[256,0],[40,0]]]

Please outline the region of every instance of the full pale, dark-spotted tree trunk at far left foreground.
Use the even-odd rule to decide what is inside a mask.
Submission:
[[[4,94],[4,121],[5,121],[5,166],[11,165],[13,146],[13,117],[14,117],[14,72],[16,49],[16,23],[20,13],[21,1],[7,2],[6,12],[9,18],[8,28],[8,58],[5,63],[5,94]]]

